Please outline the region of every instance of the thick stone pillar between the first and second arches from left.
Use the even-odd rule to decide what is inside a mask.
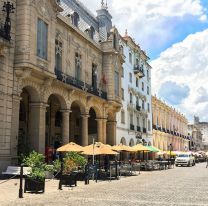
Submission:
[[[31,146],[37,152],[45,154],[45,118],[46,107],[45,103],[31,103]]]

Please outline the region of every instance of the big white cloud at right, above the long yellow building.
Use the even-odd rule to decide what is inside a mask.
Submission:
[[[179,105],[188,117],[199,115],[208,121],[208,29],[189,35],[151,62],[152,90],[172,81],[190,88],[189,96]]]

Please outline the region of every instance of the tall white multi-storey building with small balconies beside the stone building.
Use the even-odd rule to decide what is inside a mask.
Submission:
[[[127,32],[120,40],[125,63],[122,67],[122,108],[117,114],[117,143],[152,143],[151,66],[149,57]]]

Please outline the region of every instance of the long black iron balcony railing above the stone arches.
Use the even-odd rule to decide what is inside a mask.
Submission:
[[[55,74],[56,74],[57,79],[63,83],[69,84],[71,86],[79,88],[85,92],[89,92],[90,94],[101,97],[103,99],[107,99],[107,93],[98,88],[92,87],[91,85],[83,81],[80,81],[76,79],[75,77],[64,74],[63,72],[59,70],[55,70]]]

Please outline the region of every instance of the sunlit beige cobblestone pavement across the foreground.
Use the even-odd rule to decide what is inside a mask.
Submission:
[[[64,187],[62,191],[57,190],[58,182],[52,180],[46,184],[45,194],[24,194],[23,199],[17,199],[19,183],[12,180],[12,183],[0,184],[0,205],[207,206],[207,179],[208,169],[205,163],[200,163],[189,168],[141,172],[119,181],[90,181],[89,185],[79,182],[77,187]]]

